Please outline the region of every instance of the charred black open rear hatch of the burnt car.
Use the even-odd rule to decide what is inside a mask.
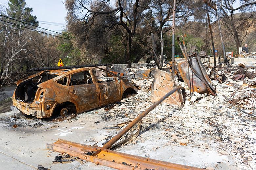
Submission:
[[[46,72],[20,83],[15,91],[15,99],[26,103],[33,102],[38,89],[37,85],[56,76],[58,75]]]

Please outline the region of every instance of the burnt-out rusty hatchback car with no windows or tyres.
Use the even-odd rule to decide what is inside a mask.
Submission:
[[[129,80],[99,67],[41,71],[15,83],[12,110],[37,118],[85,112],[136,92]]]

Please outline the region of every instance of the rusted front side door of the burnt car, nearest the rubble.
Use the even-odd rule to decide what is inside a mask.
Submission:
[[[120,100],[120,79],[114,74],[102,70],[94,69],[92,71],[99,88],[99,105],[102,106]]]

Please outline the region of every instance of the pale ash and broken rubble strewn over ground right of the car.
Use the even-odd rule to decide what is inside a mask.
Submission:
[[[244,81],[232,79],[236,74],[248,72],[250,76],[245,76]],[[217,74],[225,75],[226,78],[221,82],[212,80],[216,96],[197,92],[190,96],[186,83],[179,82],[187,90],[184,106],[160,104],[142,119],[139,136],[116,149],[122,151],[125,146],[136,147],[147,143],[147,140],[159,139],[160,146],[189,147],[198,149],[203,154],[217,152],[220,156],[228,156],[234,160],[230,162],[230,166],[253,169],[256,167],[256,89],[251,85],[256,83],[255,73],[254,68],[241,68],[235,64],[228,71],[218,70]],[[101,118],[110,122],[119,120],[120,123],[133,120],[152,105],[150,93],[139,90],[138,94],[101,109]],[[120,128],[104,130],[106,134],[114,136]],[[150,133],[145,133],[147,131]],[[152,149],[148,145],[143,146],[141,152]]]

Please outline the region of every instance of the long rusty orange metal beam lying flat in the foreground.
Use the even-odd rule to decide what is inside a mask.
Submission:
[[[60,153],[68,153],[70,156],[91,161],[96,165],[104,165],[120,170],[203,170],[186,165],[143,158],[135,155],[125,154],[95,146],[69,142],[58,139],[53,144],[47,144],[47,148]],[[92,152],[101,150],[97,156],[92,156]]]

